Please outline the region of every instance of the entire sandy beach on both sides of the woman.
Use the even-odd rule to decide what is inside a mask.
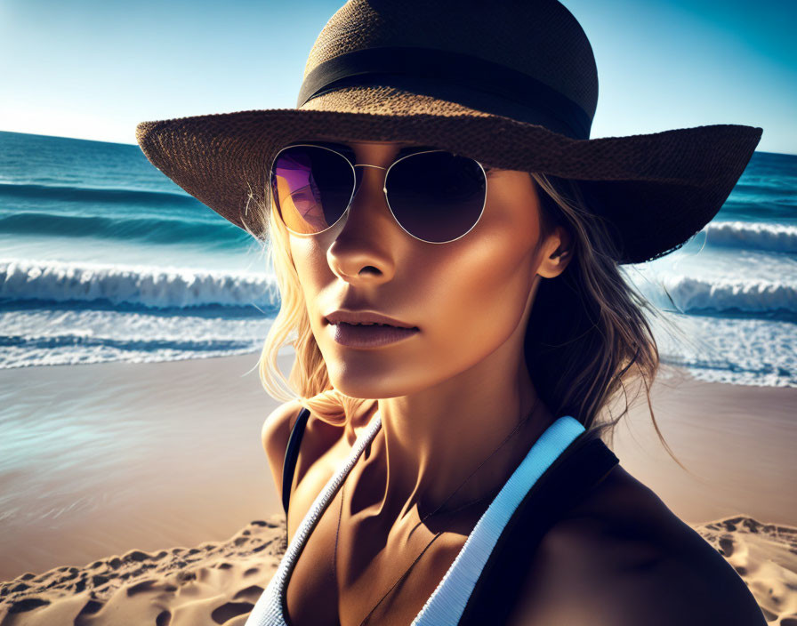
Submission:
[[[43,443],[36,469],[0,466],[0,626],[246,622],[286,541],[256,359],[4,371],[4,451]],[[728,559],[770,622],[794,626],[797,389],[664,368],[651,394],[692,474],[641,398],[611,446],[621,464]]]

